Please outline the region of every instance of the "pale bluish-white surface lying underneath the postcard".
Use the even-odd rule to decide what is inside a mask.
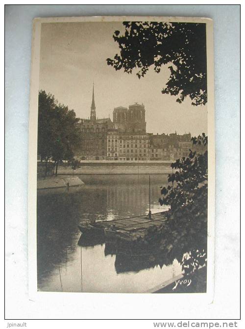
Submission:
[[[212,304],[168,305],[161,295],[47,294],[27,297],[27,149],[34,17],[196,16],[214,20],[216,256]],[[6,318],[239,318],[240,8],[237,5],[8,5],[6,7]],[[48,294],[49,295],[49,294]],[[115,307],[116,305],[116,307]],[[138,307],[139,306],[139,307]]]

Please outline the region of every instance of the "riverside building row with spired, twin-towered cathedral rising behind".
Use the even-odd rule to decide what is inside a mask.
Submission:
[[[81,145],[78,160],[159,161],[175,160],[189,155],[191,134],[147,134],[145,106],[134,103],[113,110],[109,118],[98,119],[93,85],[90,118],[80,119]]]

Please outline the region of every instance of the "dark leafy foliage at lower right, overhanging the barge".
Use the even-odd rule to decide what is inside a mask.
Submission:
[[[161,187],[161,205],[170,205],[161,226],[150,226],[144,239],[135,233],[134,248],[158,246],[165,265],[176,258],[185,274],[190,274],[207,261],[207,137],[193,137],[197,151],[172,164],[169,185]],[[204,148],[204,150],[203,150]]]

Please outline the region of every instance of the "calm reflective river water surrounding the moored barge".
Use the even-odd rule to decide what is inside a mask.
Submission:
[[[111,220],[148,213],[148,175],[80,175],[82,188],[38,192],[39,291],[144,293],[181,274],[160,250],[132,255],[100,241],[79,243],[82,220]],[[151,175],[152,213],[167,175]],[[51,192],[50,192],[51,191]]]

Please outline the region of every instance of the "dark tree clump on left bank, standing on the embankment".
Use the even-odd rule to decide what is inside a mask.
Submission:
[[[46,164],[49,159],[54,161],[57,175],[59,162],[73,159],[79,145],[79,119],[43,90],[39,92],[38,110],[38,154]]]

